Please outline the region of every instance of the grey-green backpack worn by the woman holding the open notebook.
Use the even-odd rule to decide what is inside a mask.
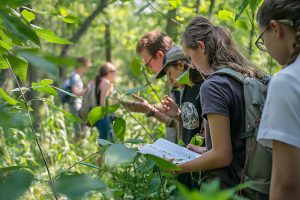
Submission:
[[[271,76],[259,80],[245,77],[231,68],[221,68],[214,74],[230,76],[243,85],[245,132],[237,140],[245,140],[246,159],[243,169],[234,159],[232,166],[240,175],[241,183],[251,182],[250,186],[242,191],[245,196],[257,200],[268,199],[272,171],[272,151],[258,143],[256,136]]]

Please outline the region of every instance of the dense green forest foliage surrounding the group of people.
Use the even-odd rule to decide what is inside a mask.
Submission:
[[[116,112],[114,143],[97,140],[91,127],[74,141],[72,123],[80,119],[65,110],[57,91],[74,57],[92,59],[87,83],[111,52],[119,75],[111,98],[130,99],[129,94],[138,93],[158,103],[165,83],[154,82],[143,68],[136,42],[145,32],[161,29],[180,43],[185,25],[197,14],[228,27],[244,55],[275,73],[278,66],[253,45],[260,2],[1,0],[0,199],[237,198],[234,192],[243,186],[220,191],[216,181],[201,193],[178,187],[168,173],[175,165],[137,152],[139,145],[163,137],[164,125],[118,104],[96,107],[89,114],[93,124],[104,113]]]

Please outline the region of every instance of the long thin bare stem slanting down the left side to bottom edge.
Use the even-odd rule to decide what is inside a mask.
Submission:
[[[40,143],[39,143],[37,137],[35,137],[36,134],[35,134],[35,132],[34,132],[33,122],[32,122],[31,116],[30,116],[29,106],[28,106],[26,97],[25,97],[25,95],[24,95],[23,92],[22,92],[22,89],[21,89],[20,83],[19,83],[19,81],[18,81],[18,79],[17,79],[17,76],[16,76],[16,74],[14,73],[14,71],[13,71],[13,69],[12,69],[12,67],[11,67],[11,65],[10,65],[10,63],[9,63],[9,61],[8,61],[7,58],[6,58],[6,63],[7,63],[8,67],[9,67],[9,69],[10,69],[10,71],[11,71],[11,73],[12,73],[12,75],[13,75],[13,77],[14,77],[14,79],[15,79],[17,85],[18,85],[18,88],[19,88],[21,94],[22,94],[22,98],[23,98],[23,100],[24,100],[24,103],[25,103],[25,106],[26,106],[26,110],[27,110],[27,114],[28,114],[28,118],[29,118],[29,121],[30,121],[30,129],[31,129],[31,133],[33,134],[33,136],[34,136],[34,138],[35,138],[35,142],[36,142],[37,145],[38,145],[39,151],[40,151],[40,153],[41,153],[41,155],[42,155],[42,158],[43,158],[45,167],[46,167],[46,169],[47,169],[48,177],[49,177],[49,180],[50,180],[50,183],[51,183],[51,184],[50,184],[50,187],[51,187],[51,189],[52,189],[52,192],[53,192],[53,194],[54,194],[54,196],[55,196],[55,199],[58,200],[57,195],[56,195],[56,193],[55,193],[55,191],[54,191],[54,188],[52,187],[53,181],[52,181],[52,178],[51,178],[51,174],[50,174],[50,170],[49,170],[49,167],[48,167],[48,163],[47,163],[47,161],[46,161],[46,158],[45,158],[45,155],[44,155],[43,150],[42,150],[42,148],[41,148],[41,145],[40,145]]]

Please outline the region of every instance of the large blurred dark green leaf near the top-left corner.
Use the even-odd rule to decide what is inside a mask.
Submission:
[[[7,30],[18,39],[18,43],[21,45],[27,40],[40,45],[40,40],[36,33],[29,27],[26,26],[20,18],[3,14],[3,24]]]

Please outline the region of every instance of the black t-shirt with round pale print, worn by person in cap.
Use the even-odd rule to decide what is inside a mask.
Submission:
[[[182,140],[188,145],[192,137],[201,132],[202,110],[200,104],[200,87],[203,81],[193,87],[185,86],[180,101],[182,120]]]

